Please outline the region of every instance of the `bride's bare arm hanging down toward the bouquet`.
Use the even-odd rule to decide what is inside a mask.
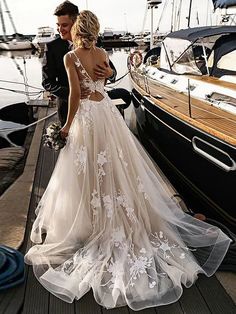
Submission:
[[[66,124],[61,129],[62,137],[66,137],[68,135],[71,123],[74,119],[76,111],[78,110],[78,106],[80,103],[80,82],[79,76],[75,68],[75,64],[73,59],[71,58],[70,54],[66,54],[64,56],[64,64],[68,76],[70,93],[69,93],[69,100],[68,100],[68,114]]]

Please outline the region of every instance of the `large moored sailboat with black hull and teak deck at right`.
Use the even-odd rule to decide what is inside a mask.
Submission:
[[[235,228],[236,26],[171,32],[147,54],[128,64],[135,131],[184,197]]]

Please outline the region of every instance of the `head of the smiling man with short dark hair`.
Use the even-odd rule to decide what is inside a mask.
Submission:
[[[64,1],[55,10],[57,17],[57,30],[63,40],[71,40],[71,28],[79,15],[76,5],[70,1]]]

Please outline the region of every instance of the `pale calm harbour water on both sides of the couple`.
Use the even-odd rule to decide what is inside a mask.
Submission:
[[[116,48],[108,51],[117,69],[117,78],[127,73],[129,49]],[[42,59],[32,54],[32,51],[0,52],[0,109],[11,104],[27,102],[29,99],[42,98],[41,62]],[[25,89],[25,83],[32,86],[28,91]],[[130,90],[128,76],[114,86]]]

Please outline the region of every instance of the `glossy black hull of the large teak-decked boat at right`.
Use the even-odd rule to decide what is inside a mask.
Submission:
[[[236,148],[165,111],[135,88],[132,95],[140,140],[185,201],[235,227],[236,171],[230,158],[236,160]]]

